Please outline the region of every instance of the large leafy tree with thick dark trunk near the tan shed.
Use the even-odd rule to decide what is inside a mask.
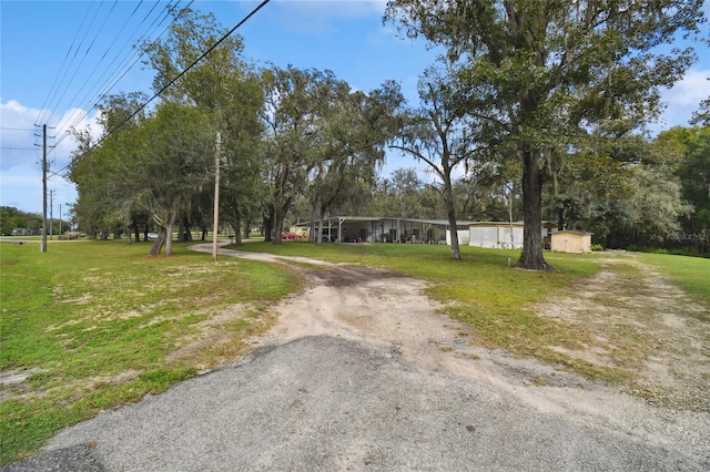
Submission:
[[[523,164],[524,249],[518,265],[545,269],[540,235],[549,150],[595,123],[622,135],[655,116],[660,88],[680,79],[692,49],[661,53],[697,32],[702,0],[392,0],[386,18],[457,62],[462,105],[478,138]]]

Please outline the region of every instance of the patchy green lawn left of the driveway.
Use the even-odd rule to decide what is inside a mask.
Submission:
[[[3,386],[3,464],[63,427],[244,353],[242,339],[272,321],[268,306],[300,286],[283,268],[213,263],[181,244],[173,257],[146,256],[145,243],[39,247],[0,244],[0,369],[33,372]],[[201,332],[213,338],[195,343]]]

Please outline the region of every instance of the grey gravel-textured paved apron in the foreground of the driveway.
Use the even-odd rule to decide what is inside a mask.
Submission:
[[[540,413],[489,386],[423,372],[396,351],[331,337],[263,348],[72,427],[50,449],[8,470],[710,468],[707,455]]]

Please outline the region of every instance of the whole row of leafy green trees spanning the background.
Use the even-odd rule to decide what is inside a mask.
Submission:
[[[394,82],[365,92],[331,71],[257,68],[237,35],[175,81],[225,31],[211,14],[175,11],[165,39],[139,45],[160,102],[108,96],[101,136],[74,132],[69,178],[81,229],[155,227],[151,253],[171,254],[166,235],[212,228],[219,189],[237,244],[254,226],[278,244],[291,223],[348,214],[521,218],[526,228],[548,219],[608,247],[708,250],[689,236],[708,229],[707,126],[638,134],[658,111],[658,89],[694,54],[653,48],[697,31],[699,10],[454,3],[388,3],[387,20],[448,51],[423,72],[417,105]],[[702,114],[698,123],[707,125]],[[382,177],[393,152],[424,163],[430,182],[406,168]],[[452,257],[460,258],[456,240]],[[547,268],[537,229],[526,232],[519,265]]]

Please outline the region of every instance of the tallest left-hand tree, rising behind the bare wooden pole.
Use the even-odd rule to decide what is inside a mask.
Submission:
[[[244,211],[256,199],[252,189],[260,177],[260,156],[255,150],[263,130],[261,81],[243,58],[242,38],[234,33],[225,37],[227,30],[214,14],[174,9],[173,16],[175,22],[165,39],[142,45],[148,57],[145,63],[155,70],[156,92],[171,84],[162,94],[164,101],[195,104],[213,115],[213,135],[221,134],[224,157],[221,207],[239,235]],[[220,44],[202,57],[217,41]],[[202,195],[199,202],[211,207],[213,191],[207,189],[206,194],[211,197]],[[206,215],[210,208],[201,213]]]

